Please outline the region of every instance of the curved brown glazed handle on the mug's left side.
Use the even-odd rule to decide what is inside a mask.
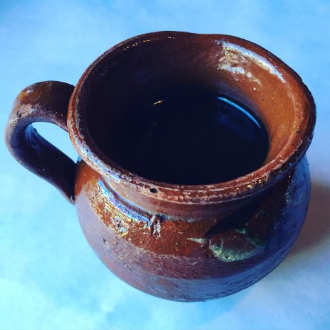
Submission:
[[[12,156],[54,185],[74,203],[76,163],[47,142],[33,122],[52,122],[67,131],[67,107],[74,86],[45,81],[23,89],[14,101],[5,127],[5,144]]]

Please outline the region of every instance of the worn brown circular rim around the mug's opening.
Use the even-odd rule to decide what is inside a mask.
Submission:
[[[294,88],[300,89],[300,91],[305,94],[307,100],[306,106],[302,107],[299,113],[295,113],[292,134],[287,138],[287,143],[276,157],[247,175],[230,181],[220,182],[219,184],[166,184],[165,182],[146,179],[145,177],[132,173],[122,168],[102,153],[89,134],[87,122],[81,120],[81,113],[86,107],[85,100],[81,102],[80,96],[83,95],[84,89],[87,90],[87,82],[92,78],[94,70],[104,65],[104,60],[111,61],[115,56],[122,54],[127,47],[143,41],[184,39],[188,37],[209,39],[210,41],[217,41],[218,43],[230,42],[233,45],[243,47],[245,50],[257,54],[259,58],[263,58],[267,63],[274,65],[278,72],[292,78]],[[255,43],[225,34],[194,34],[190,32],[163,31],[141,34],[127,39],[122,43],[118,43],[118,45],[111,47],[89,65],[74,89],[69,103],[67,120],[70,138],[80,157],[91,166],[91,168],[98,171],[100,175],[114,181],[114,183],[120,183],[126,186],[126,188],[142,193],[142,195],[162,201],[173,201],[173,198],[171,198],[173,195],[181,195],[184,196],[184,199],[176,199],[175,203],[221,203],[223,201],[241,199],[261,192],[261,190],[276,184],[276,182],[280,181],[296,166],[305,155],[311,143],[316,121],[316,107],[311,92],[303,83],[300,76],[277,56]],[[297,133],[297,131],[299,133]],[[155,194],[153,191],[160,193]]]

